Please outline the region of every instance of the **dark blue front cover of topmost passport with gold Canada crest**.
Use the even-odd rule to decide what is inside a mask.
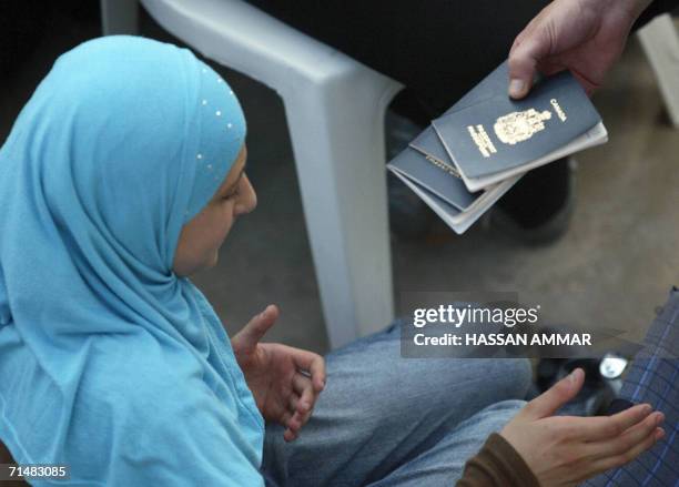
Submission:
[[[433,122],[456,168],[468,179],[530,163],[601,122],[570,72],[544,79],[518,101],[506,94],[505,78],[503,94],[478,101],[491,84],[493,80],[467,99],[465,108]]]

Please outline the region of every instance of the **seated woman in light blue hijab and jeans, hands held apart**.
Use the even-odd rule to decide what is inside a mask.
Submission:
[[[244,140],[224,80],[142,38],[62,55],[21,112],[0,151],[0,440],[70,466],[34,485],[452,485],[488,435],[460,481],[537,485],[563,454],[585,478],[662,436],[645,405],[550,417],[581,371],[521,409],[525,361],[399,359],[396,325],[331,354],[327,385],[322,357],[259,343],[275,306],[230,342],[188,276],[256,205]]]

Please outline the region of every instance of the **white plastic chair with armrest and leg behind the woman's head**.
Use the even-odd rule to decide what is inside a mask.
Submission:
[[[141,0],[168,31],[283,99],[332,347],[393,319],[384,115],[402,88],[240,0]],[[105,34],[136,0],[101,0]]]

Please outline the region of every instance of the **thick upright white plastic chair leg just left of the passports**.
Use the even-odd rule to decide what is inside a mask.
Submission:
[[[282,90],[331,347],[394,316],[384,114],[396,82],[366,69]]]

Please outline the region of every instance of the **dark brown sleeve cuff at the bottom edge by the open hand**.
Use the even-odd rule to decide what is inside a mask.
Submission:
[[[491,434],[465,465],[456,487],[540,487],[521,456],[500,435]]]

